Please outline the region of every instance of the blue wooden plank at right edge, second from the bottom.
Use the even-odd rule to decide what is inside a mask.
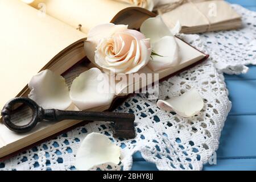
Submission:
[[[256,115],[229,116],[221,133],[218,159],[256,159]]]

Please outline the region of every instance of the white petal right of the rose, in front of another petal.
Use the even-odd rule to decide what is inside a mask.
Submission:
[[[158,55],[152,56],[148,67],[152,71],[173,67],[179,64],[179,47],[173,36],[164,36],[158,42],[154,43],[153,51]]]

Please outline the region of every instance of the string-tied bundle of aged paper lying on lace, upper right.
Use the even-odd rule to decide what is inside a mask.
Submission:
[[[179,20],[180,32],[185,34],[232,30],[242,26],[241,15],[223,0],[173,0],[156,9],[170,28]]]

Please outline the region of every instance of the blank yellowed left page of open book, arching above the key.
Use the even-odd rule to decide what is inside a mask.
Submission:
[[[19,0],[0,0],[0,108],[17,96],[30,78],[58,53],[85,38],[85,34],[38,14]]]

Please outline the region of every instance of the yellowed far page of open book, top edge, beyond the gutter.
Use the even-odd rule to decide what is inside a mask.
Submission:
[[[88,33],[90,28],[100,23],[109,23],[112,18],[126,7],[128,3],[113,0],[36,0],[31,6],[46,10],[54,18]]]

